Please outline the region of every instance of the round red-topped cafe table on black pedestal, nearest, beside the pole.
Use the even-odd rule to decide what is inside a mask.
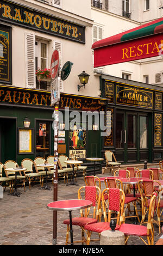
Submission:
[[[89,208],[90,206],[92,206],[90,200],[80,199],[55,201],[47,205],[47,208],[53,211],[69,211],[71,245],[73,245],[72,211]]]

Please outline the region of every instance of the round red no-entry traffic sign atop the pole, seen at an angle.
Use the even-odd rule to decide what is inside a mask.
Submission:
[[[51,77],[54,80],[59,71],[59,51],[54,50],[51,58]]]

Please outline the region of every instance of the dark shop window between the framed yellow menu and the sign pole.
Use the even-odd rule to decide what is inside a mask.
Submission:
[[[50,125],[49,121],[37,121],[36,123],[36,156],[47,158],[50,155]]]

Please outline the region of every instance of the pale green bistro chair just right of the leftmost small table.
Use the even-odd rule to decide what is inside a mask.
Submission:
[[[40,186],[42,187],[42,177],[41,173],[39,172],[33,172],[33,168],[35,168],[34,161],[31,159],[23,159],[21,162],[22,168],[26,168],[27,170],[24,170],[24,176],[26,176],[28,182],[29,182],[29,190],[30,190],[30,184],[32,182],[40,182]]]

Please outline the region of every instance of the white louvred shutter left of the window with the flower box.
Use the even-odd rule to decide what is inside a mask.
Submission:
[[[25,34],[26,36],[26,87],[36,87],[35,77],[35,35]]]

